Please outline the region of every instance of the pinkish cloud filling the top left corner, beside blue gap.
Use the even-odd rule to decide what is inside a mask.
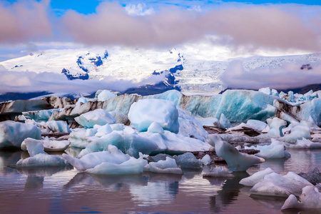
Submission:
[[[0,3],[0,42],[44,39],[52,34],[49,1],[19,1],[11,6]]]

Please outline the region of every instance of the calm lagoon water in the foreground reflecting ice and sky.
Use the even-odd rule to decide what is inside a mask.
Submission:
[[[0,213],[282,213],[286,198],[253,196],[238,182],[267,167],[285,174],[321,166],[321,150],[289,152],[286,161],[267,161],[228,180],[203,178],[202,170],[129,176],[89,175],[72,168],[16,170],[5,165],[23,153],[0,152]],[[316,210],[302,213],[311,212]]]

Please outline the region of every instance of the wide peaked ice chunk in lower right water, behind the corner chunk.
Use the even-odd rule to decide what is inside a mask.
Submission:
[[[300,196],[302,188],[307,185],[312,185],[312,183],[293,172],[289,172],[287,175],[270,173],[256,183],[253,188],[250,189],[250,193],[281,197],[287,197],[291,194]]]

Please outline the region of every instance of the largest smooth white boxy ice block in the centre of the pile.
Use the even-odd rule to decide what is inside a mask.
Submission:
[[[138,131],[147,131],[156,121],[165,130],[178,133],[178,110],[172,101],[143,99],[131,105],[128,118]]]

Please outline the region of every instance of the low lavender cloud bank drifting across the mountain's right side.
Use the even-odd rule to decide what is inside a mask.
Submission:
[[[302,63],[285,63],[279,68],[255,68],[247,71],[243,61],[232,61],[221,81],[229,88],[300,88],[321,83],[321,64],[312,63],[312,69],[301,69]]]

